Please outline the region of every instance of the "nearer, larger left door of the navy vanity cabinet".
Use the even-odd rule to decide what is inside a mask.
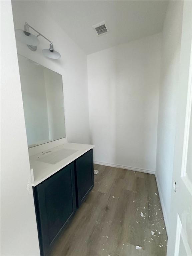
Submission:
[[[66,226],[76,210],[74,163],[34,187],[41,255]]]

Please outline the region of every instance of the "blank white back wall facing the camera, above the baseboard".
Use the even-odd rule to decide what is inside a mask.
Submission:
[[[94,160],[154,172],[161,33],[88,55]]]

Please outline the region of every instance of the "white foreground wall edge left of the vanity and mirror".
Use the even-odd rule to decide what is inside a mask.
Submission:
[[[39,255],[11,1],[1,1],[1,255]]]

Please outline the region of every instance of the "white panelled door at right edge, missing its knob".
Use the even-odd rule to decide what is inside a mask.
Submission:
[[[192,2],[184,1],[167,255],[192,255]],[[176,184],[175,184],[176,183]],[[176,192],[175,192],[176,191]]]

